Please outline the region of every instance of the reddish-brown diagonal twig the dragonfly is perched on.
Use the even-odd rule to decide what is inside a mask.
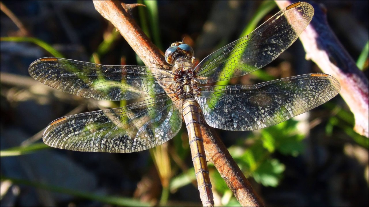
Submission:
[[[116,1],[94,1],[94,6],[104,18],[118,29],[146,66],[168,67],[162,53],[132,20],[130,14],[123,10],[120,3]],[[177,105],[177,107],[179,106]],[[261,199],[252,190],[250,183],[227,151],[227,148],[224,147],[217,136],[214,136],[207,124],[202,124],[201,133],[204,136],[207,158],[213,162],[239,203],[242,206],[263,206]]]

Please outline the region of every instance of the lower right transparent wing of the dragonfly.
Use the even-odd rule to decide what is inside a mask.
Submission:
[[[260,84],[202,87],[196,99],[209,126],[247,131],[307,112],[335,97],[340,88],[334,77],[313,73]]]

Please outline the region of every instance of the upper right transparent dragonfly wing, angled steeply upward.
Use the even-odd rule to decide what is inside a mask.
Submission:
[[[196,80],[207,84],[243,76],[264,67],[296,41],[313,15],[310,4],[291,4],[249,35],[203,59],[196,67]]]

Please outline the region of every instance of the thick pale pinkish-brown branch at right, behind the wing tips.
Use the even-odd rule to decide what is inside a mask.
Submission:
[[[276,1],[279,8],[284,8],[293,2]],[[310,25],[300,35],[306,58],[313,60],[324,73],[337,78],[341,84],[339,94],[355,116],[354,130],[368,137],[368,78],[358,69],[355,61],[329,27],[327,11],[314,1],[307,2],[314,7],[315,11]]]

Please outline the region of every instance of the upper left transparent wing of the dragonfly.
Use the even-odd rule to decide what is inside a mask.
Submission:
[[[28,72],[37,81],[60,91],[97,100],[119,101],[164,92],[172,83],[168,71],[146,66],[104,66],[55,57],[33,62]]]

